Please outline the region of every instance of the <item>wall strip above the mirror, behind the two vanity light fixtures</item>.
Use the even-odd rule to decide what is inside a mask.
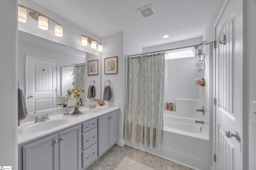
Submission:
[[[38,37],[43,37],[46,39],[49,39],[54,42],[58,42],[64,45],[68,45],[70,47],[80,49],[82,51],[86,51],[88,53],[92,53],[95,55],[101,55],[101,52],[98,52],[97,49],[92,49],[90,47],[90,44],[88,46],[82,46],[81,41],[82,41],[82,36],[86,35],[89,37],[92,37],[96,39],[97,41],[101,42],[101,38],[98,37],[97,35],[87,31],[86,29],[76,25],[72,21],[69,21],[62,16],[59,16],[58,14],[48,10],[47,8],[44,8],[43,6],[37,4],[33,0],[18,0],[18,3],[26,6],[28,8],[31,8],[37,12],[40,12],[44,14],[45,16],[57,21],[63,26],[63,37],[57,37],[54,35],[54,23],[52,21],[49,21],[49,26],[48,30],[42,30],[38,28],[38,23],[34,21],[29,15],[27,16],[27,22],[22,23],[18,22],[18,30],[24,31],[27,33],[31,33],[33,35],[36,35]],[[104,44],[103,44],[104,48]]]

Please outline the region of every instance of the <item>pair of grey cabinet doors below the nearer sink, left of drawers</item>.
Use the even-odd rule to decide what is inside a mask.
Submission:
[[[23,146],[23,170],[81,170],[81,125]]]

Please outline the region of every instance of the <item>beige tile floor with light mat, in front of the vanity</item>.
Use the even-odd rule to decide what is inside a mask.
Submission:
[[[115,145],[87,170],[192,170],[159,156],[124,145]]]

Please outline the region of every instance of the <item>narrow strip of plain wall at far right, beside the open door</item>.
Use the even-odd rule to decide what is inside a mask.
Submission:
[[[245,125],[248,125],[248,167],[249,170],[256,169],[256,125],[252,124],[252,119],[256,119],[252,113],[252,101],[256,102],[256,76],[255,76],[255,47],[256,47],[256,1],[246,0],[244,4],[244,102],[243,114],[246,115]],[[255,111],[255,110],[254,110]],[[246,128],[247,131],[247,128]],[[247,140],[246,140],[247,141]]]

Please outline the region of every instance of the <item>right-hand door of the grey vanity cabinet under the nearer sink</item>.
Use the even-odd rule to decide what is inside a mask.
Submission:
[[[60,170],[81,169],[81,126],[59,133]]]

